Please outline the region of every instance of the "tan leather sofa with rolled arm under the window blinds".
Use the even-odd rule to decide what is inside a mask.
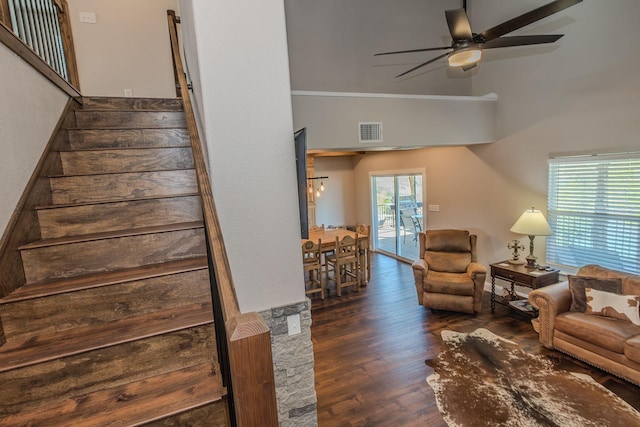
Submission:
[[[586,289],[586,293],[583,292],[586,302],[582,303],[578,296],[580,286]],[[618,292],[602,292],[607,291],[606,287],[615,286],[619,286]],[[594,293],[594,289],[597,292]],[[625,297],[616,295],[618,293]],[[601,298],[600,295],[613,295],[617,310],[612,310],[613,306],[598,306],[596,298]],[[640,325],[626,316],[624,320],[615,318],[624,310],[633,313],[632,308],[617,302],[624,302],[627,295],[640,295],[640,276],[598,265],[584,266],[567,281],[529,293],[529,301],[539,310],[538,318],[532,321],[533,327],[545,347],[640,385]],[[627,306],[635,304],[636,314],[639,300],[633,297],[626,300]],[[580,304],[584,305],[584,312]]]

